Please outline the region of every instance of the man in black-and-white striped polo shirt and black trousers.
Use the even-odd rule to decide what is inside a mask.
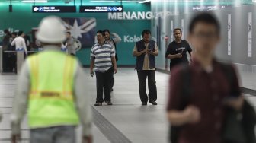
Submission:
[[[112,105],[110,97],[111,80],[113,72],[117,73],[114,47],[109,43],[105,43],[104,36],[104,31],[97,31],[98,43],[91,48],[91,76],[94,75],[94,68],[97,81],[97,99],[94,106],[101,106],[104,101],[107,105]]]

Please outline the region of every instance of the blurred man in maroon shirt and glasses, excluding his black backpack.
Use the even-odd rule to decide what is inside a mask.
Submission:
[[[171,126],[180,126],[178,143],[222,143],[225,106],[240,110],[243,97],[235,69],[214,58],[220,40],[219,21],[212,14],[198,14],[190,22],[188,40],[194,47],[193,61],[187,68],[178,65],[172,69],[168,119]],[[224,65],[230,67],[232,82],[223,70]],[[189,72],[190,87],[184,87],[185,70]],[[184,100],[182,96],[188,88],[191,90]]]

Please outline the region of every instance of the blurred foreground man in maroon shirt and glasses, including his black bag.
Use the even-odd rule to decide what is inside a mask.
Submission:
[[[242,97],[235,68],[214,57],[219,21],[210,13],[197,14],[190,22],[188,40],[194,48],[191,65],[171,71],[167,106],[171,142],[254,143],[255,113]]]

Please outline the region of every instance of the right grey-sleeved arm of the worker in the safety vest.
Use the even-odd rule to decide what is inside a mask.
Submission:
[[[78,65],[78,63],[77,63]],[[88,140],[91,138],[91,97],[88,94],[88,88],[83,86],[86,84],[86,76],[80,65],[77,66],[74,79],[74,96],[75,105],[78,110],[80,122],[82,123],[82,135]]]

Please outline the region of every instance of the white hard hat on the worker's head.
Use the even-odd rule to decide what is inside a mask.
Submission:
[[[56,16],[44,17],[39,24],[37,39],[42,43],[62,43],[66,40],[66,29]]]

